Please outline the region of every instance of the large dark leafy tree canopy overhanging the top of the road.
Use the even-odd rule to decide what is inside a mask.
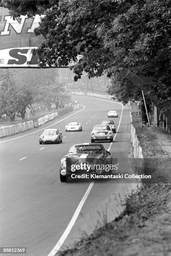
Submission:
[[[3,3],[17,15],[17,4]],[[46,14],[35,29],[36,35],[45,38],[36,50],[40,67],[66,66],[81,54],[72,67],[75,81],[83,71],[89,77],[104,72],[111,77],[125,67],[133,75],[153,77],[147,88],[157,95],[159,104],[167,105],[171,97],[170,0],[59,0],[51,5],[43,1],[41,7],[34,3],[36,13]],[[29,9],[22,13],[32,15]]]

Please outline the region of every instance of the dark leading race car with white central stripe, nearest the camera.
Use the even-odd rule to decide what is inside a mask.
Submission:
[[[84,169],[77,169],[75,171],[71,170],[71,166],[86,164]],[[112,156],[109,151],[106,151],[104,146],[100,143],[80,143],[75,144],[69,148],[68,154],[66,154],[61,159],[60,164],[60,180],[61,182],[66,182],[67,179],[71,176],[72,173],[97,173],[101,174],[105,172],[105,174],[112,174],[112,171],[108,172],[104,169],[97,168],[96,169],[87,169],[87,164],[112,164]]]

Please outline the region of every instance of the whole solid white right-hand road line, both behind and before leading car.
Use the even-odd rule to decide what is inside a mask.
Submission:
[[[99,99],[100,100],[100,99]],[[107,101],[107,102],[110,102],[108,100],[104,100],[104,101]],[[118,102],[116,102],[118,103]],[[119,121],[119,124],[118,124],[118,127],[117,127],[117,132],[119,130],[119,127],[120,127],[120,122],[121,122],[121,118],[122,118],[122,115],[123,115],[123,104],[122,103],[118,103],[120,105],[122,105],[122,112],[121,112],[121,115],[120,115],[120,121]],[[113,138],[113,141],[115,140],[116,138],[116,135],[117,135],[117,132],[115,133],[115,136]],[[112,143],[110,143],[109,145],[109,148],[107,149],[107,151],[110,151],[110,148],[112,146]],[[48,256],[55,256],[55,254],[59,251],[59,249],[61,248],[61,246],[63,245],[64,241],[66,240],[67,236],[69,235],[74,223],[76,222],[77,218],[78,218],[78,215],[79,215],[79,212],[82,210],[82,207],[84,205],[84,202],[86,201],[92,187],[94,185],[94,182],[91,182],[89,184],[89,187],[87,188],[87,191],[85,192],[84,196],[82,197],[82,200],[81,202],[79,203],[76,211],[74,212],[74,215],[73,217],[71,218],[66,230],[64,231],[64,233],[62,234],[61,238],[59,239],[59,241],[56,243],[56,246],[54,246],[54,248],[51,250],[51,252],[48,254]]]

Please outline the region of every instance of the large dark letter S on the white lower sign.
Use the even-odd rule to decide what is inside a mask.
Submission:
[[[22,65],[27,61],[27,57],[21,54],[18,54],[18,52],[20,52],[21,54],[27,54],[28,53],[28,49],[12,49],[9,51],[9,55],[15,59],[18,59],[18,61],[16,61],[15,59],[9,59],[8,60],[8,64],[18,64],[18,65]]]

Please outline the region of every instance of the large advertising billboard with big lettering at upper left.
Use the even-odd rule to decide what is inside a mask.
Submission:
[[[33,30],[44,16],[20,16],[13,20],[8,9],[0,8],[0,68],[38,67],[33,49],[38,48],[43,37],[35,36]]]

